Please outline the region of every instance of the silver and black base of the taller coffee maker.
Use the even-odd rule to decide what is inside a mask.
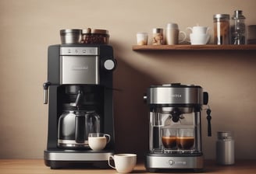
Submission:
[[[114,151],[44,151],[44,164],[51,169],[108,169]]]

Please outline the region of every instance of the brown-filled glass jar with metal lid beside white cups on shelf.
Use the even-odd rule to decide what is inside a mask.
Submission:
[[[229,15],[216,14],[213,16],[214,44],[229,44]]]

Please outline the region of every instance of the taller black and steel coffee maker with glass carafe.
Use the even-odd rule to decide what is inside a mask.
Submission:
[[[44,163],[51,169],[108,166],[114,153],[113,49],[106,44],[61,44],[48,47],[48,141]],[[49,94],[48,94],[49,91]],[[89,133],[109,134],[105,149],[92,151]]]

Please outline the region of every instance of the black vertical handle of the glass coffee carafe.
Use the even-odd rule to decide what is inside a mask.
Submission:
[[[76,143],[84,143],[85,140],[85,116],[83,112],[76,112],[76,122],[75,122],[75,138]]]

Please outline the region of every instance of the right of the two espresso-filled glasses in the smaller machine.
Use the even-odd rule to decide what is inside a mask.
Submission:
[[[194,147],[194,128],[180,128],[177,131],[176,143],[179,150],[190,150]]]

